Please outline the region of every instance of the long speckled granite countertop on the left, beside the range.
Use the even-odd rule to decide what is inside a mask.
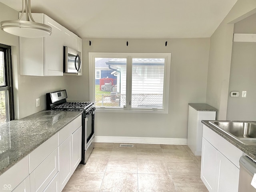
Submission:
[[[0,124],[0,175],[81,114],[41,111]]]

